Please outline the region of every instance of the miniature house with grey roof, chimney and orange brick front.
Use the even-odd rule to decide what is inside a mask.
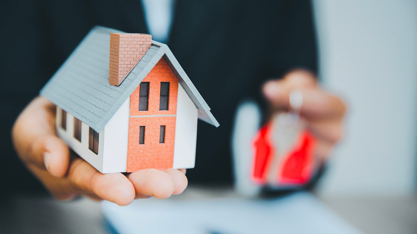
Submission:
[[[193,168],[197,119],[219,126],[147,34],[94,27],[40,95],[57,106],[58,136],[102,173]]]

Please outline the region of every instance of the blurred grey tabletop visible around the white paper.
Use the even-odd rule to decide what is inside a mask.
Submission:
[[[207,197],[231,199],[236,195],[230,189],[189,187],[170,199]],[[417,196],[319,197],[319,200],[364,233],[417,233]],[[101,234],[107,231],[104,220],[101,204],[88,199],[59,202],[49,197],[18,195],[3,200],[0,232]]]

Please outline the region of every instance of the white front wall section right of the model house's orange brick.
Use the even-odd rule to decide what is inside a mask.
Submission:
[[[196,161],[198,110],[190,97],[178,86],[177,116],[173,168],[193,168]]]

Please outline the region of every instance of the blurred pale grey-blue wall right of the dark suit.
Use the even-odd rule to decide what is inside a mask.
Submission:
[[[414,192],[417,1],[314,1],[320,75],[349,105],[323,194]]]

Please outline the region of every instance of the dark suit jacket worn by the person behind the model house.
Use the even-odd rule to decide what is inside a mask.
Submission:
[[[121,2],[121,1],[120,1]],[[140,0],[39,0],[3,3],[1,22],[0,181],[6,188],[39,184],[13,151],[14,119],[94,25],[148,32]],[[168,46],[204,97],[219,128],[198,124],[191,183],[230,183],[230,137],[239,102],[262,102],[270,77],[303,67],[317,70],[309,1],[176,0]]]

